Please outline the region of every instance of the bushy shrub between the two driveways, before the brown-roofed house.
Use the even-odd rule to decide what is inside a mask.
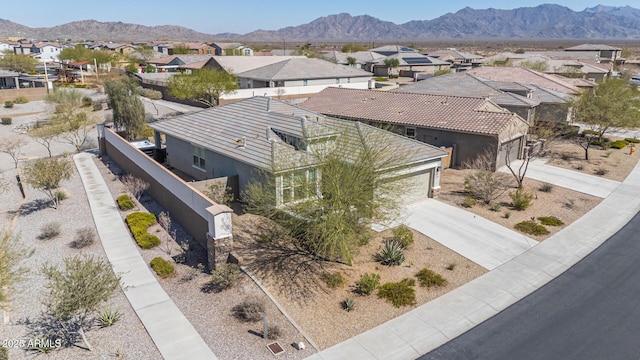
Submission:
[[[485,204],[499,198],[513,185],[509,174],[493,170],[493,163],[493,154],[485,151],[463,164],[463,168],[470,170],[464,177],[465,190]]]

